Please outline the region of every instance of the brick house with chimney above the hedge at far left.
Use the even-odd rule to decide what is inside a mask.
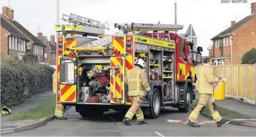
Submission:
[[[40,63],[44,62],[44,43],[14,20],[14,10],[6,6],[2,7],[1,30],[2,52],[19,55],[20,58],[26,53],[31,53],[38,56]]]

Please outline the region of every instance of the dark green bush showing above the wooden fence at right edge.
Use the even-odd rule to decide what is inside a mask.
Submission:
[[[256,49],[252,48],[251,51],[243,54],[242,64],[255,64],[256,63]]]

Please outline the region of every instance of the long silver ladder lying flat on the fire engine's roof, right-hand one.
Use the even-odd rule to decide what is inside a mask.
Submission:
[[[116,28],[123,30],[124,32],[175,32],[183,29],[183,25],[179,24],[151,24],[151,23],[132,23],[132,24],[117,24],[115,23]]]

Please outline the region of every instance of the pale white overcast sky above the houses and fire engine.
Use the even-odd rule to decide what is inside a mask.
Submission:
[[[178,33],[185,33],[192,24],[197,36],[197,46],[203,54],[212,45],[211,38],[230,27],[230,21],[239,21],[251,14],[251,3],[221,3],[223,0],[59,0],[59,15],[78,14],[94,20],[107,22],[110,30],[118,32],[114,23],[158,23],[174,24],[174,3],[177,3],[177,24],[184,25]],[[10,4],[10,5],[9,5]],[[37,36],[56,35],[56,0],[1,0],[1,7],[14,10],[14,20]],[[1,10],[2,13],[2,10]],[[64,22],[59,19],[60,24]],[[50,40],[50,39],[49,39]]]

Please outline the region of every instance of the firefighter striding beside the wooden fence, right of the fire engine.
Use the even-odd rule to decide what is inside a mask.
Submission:
[[[194,110],[188,117],[189,126],[200,127],[199,124],[196,124],[196,120],[199,114],[202,113],[202,111],[205,109],[205,107],[207,107],[208,110],[211,112],[212,118],[215,122],[217,122],[218,127],[222,126],[226,122],[218,113],[213,97],[214,83],[221,80],[222,77],[214,77],[214,74],[212,74],[211,66],[211,59],[205,58],[205,60],[203,60],[203,66],[200,67],[200,71],[197,74],[197,86],[200,98],[196,108],[194,108]]]

